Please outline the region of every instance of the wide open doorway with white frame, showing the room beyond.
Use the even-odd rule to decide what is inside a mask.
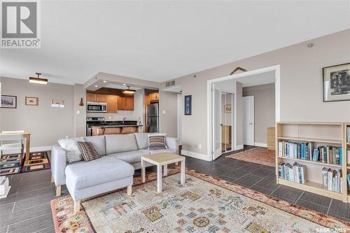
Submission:
[[[273,137],[269,136],[269,132],[273,131],[271,129],[279,120],[279,66],[211,80],[211,86],[213,94],[209,111],[213,111],[210,135],[213,141],[212,159],[232,150],[267,148],[267,139]],[[221,90],[223,87],[225,90]],[[218,91],[221,91],[220,99],[215,94]],[[227,97],[226,92],[231,96]],[[232,104],[228,99],[232,99]],[[218,105],[222,107],[218,108]],[[225,113],[225,105],[231,108],[230,117]],[[232,124],[228,119],[232,120]],[[274,145],[269,148],[274,149]]]

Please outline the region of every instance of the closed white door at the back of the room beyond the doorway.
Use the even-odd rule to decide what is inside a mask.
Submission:
[[[254,96],[243,97],[243,144],[254,146]]]

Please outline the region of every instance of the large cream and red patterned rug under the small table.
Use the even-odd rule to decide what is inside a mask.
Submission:
[[[132,197],[116,190],[82,202],[73,213],[70,196],[51,201],[55,232],[350,232],[350,223],[309,211],[275,197],[186,170],[169,169],[163,192],[156,174],[134,179]]]

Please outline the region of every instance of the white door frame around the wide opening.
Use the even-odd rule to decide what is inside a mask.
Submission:
[[[258,73],[265,73],[274,71],[275,83],[274,83],[274,98],[275,98],[275,122],[279,122],[281,118],[281,66],[279,64],[274,66],[267,66],[260,69],[254,69],[252,71],[246,71],[243,73],[233,74],[231,76],[224,76],[221,78],[214,78],[207,80],[207,160],[213,160],[213,106],[212,106],[212,94],[211,86],[212,83],[218,83],[224,80],[232,80],[235,78],[247,77]],[[237,135],[235,135],[237,136]],[[235,144],[234,144],[235,145]]]

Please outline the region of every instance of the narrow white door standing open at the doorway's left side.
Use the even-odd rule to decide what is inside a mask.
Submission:
[[[221,146],[221,90],[212,86],[213,93],[213,160],[222,154]]]

